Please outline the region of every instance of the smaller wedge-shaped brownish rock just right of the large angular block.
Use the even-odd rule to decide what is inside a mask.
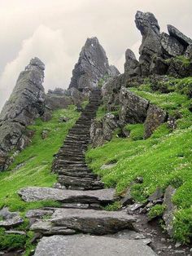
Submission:
[[[146,113],[146,121],[144,123],[145,132],[144,139],[151,137],[153,132],[166,121],[168,114],[156,105],[150,104]]]

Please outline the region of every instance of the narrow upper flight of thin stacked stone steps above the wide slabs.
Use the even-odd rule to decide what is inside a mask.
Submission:
[[[63,147],[55,156],[54,172],[59,174],[59,184],[67,189],[102,189],[103,183],[85,163],[85,151],[89,144],[89,129],[101,102],[100,90],[94,90],[89,104],[81,113],[75,126],[69,130]]]

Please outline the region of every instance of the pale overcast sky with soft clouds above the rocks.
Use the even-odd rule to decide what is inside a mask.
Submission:
[[[137,55],[141,43],[137,10],[153,12],[161,31],[172,24],[192,38],[192,0],[0,0],[0,109],[34,56],[46,64],[46,90],[68,88],[88,37],[123,72],[125,50]]]

